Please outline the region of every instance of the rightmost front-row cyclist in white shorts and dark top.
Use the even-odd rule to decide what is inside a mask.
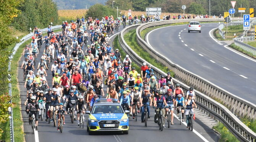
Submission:
[[[193,94],[189,94],[188,95],[188,98],[186,99],[186,101],[185,101],[185,104],[186,104],[186,110],[185,110],[185,115],[186,115],[186,123],[187,123],[187,128],[188,128],[188,126],[190,125],[189,124],[189,117],[190,117],[190,110],[191,110],[191,112],[192,112],[192,115],[194,115],[194,109],[192,109],[193,107],[192,107],[192,104],[195,106],[195,107],[197,107],[196,106],[196,103],[194,102],[194,100],[193,100]]]

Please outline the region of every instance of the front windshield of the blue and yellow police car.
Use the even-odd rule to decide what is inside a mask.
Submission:
[[[107,113],[123,113],[120,106],[117,105],[100,105],[94,106],[92,109],[92,114],[107,114]]]

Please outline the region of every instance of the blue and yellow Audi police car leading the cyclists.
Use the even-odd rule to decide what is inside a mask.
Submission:
[[[86,111],[87,132],[123,131],[128,134],[129,110],[123,110],[117,99],[97,99],[91,111]]]

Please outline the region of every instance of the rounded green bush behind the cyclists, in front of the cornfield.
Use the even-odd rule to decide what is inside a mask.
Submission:
[[[116,15],[117,11],[109,6],[104,6],[102,4],[97,3],[96,5],[91,6],[88,11],[86,11],[86,17],[92,17],[92,19]]]

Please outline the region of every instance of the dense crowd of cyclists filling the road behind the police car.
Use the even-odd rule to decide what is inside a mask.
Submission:
[[[196,107],[192,87],[184,93],[179,84],[173,84],[170,73],[157,80],[154,70],[146,63],[143,63],[140,71],[136,71],[131,66],[129,55],[122,57],[118,49],[113,50],[109,36],[113,35],[113,25],[119,26],[120,20],[126,22],[126,17],[115,20],[113,16],[106,16],[101,21],[92,17],[86,21],[82,17],[71,23],[63,21],[60,34],[49,26],[44,37],[39,28],[34,28],[31,43],[22,52],[24,61],[21,69],[27,90],[24,105],[29,123],[32,115],[35,115],[36,131],[38,119],[44,117],[42,111],[45,112],[45,121],[50,123],[58,120],[57,130],[60,129],[60,119],[65,125],[64,115],[70,114],[71,117],[74,112],[73,120],[77,120],[79,126],[80,115],[91,110],[97,98],[103,97],[118,99],[124,110],[130,110],[129,115],[133,119],[137,106],[138,112],[141,112],[141,122],[144,122],[145,110],[148,112],[147,118],[150,118],[152,105],[156,108],[154,121],[158,121],[159,110],[166,119],[166,112],[170,109],[172,125],[174,109],[182,107],[184,121],[184,113],[188,115],[192,106]],[[40,48],[43,52],[41,57]]]

